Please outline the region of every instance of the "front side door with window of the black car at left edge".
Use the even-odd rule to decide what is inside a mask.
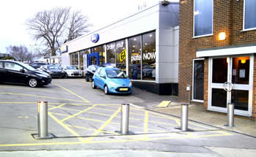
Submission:
[[[8,83],[26,83],[28,72],[20,64],[13,62],[5,62],[5,69],[7,69],[6,82]]]

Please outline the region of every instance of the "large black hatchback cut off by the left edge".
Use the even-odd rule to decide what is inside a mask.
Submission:
[[[28,84],[33,88],[52,80],[50,74],[18,61],[0,60],[0,76],[0,83]]]

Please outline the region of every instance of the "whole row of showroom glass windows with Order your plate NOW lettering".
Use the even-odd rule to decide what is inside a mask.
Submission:
[[[89,65],[97,65],[97,54],[95,53],[99,53],[99,65],[113,64],[125,73],[129,73],[129,78],[132,80],[155,80],[156,33],[154,31],[128,38],[128,45],[126,45],[126,39],[121,39],[106,45],[81,50],[79,53],[71,53],[70,63],[79,65],[80,69],[83,69],[83,55],[91,54]],[[127,56],[129,72],[127,72]],[[107,61],[105,61],[105,57]]]

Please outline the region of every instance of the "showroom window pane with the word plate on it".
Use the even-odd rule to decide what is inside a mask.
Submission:
[[[129,50],[129,78],[141,79],[141,36],[128,39]]]

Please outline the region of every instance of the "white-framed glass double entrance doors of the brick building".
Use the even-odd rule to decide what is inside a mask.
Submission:
[[[227,103],[231,102],[235,104],[235,114],[252,115],[252,58],[209,59],[208,110],[227,112]]]

